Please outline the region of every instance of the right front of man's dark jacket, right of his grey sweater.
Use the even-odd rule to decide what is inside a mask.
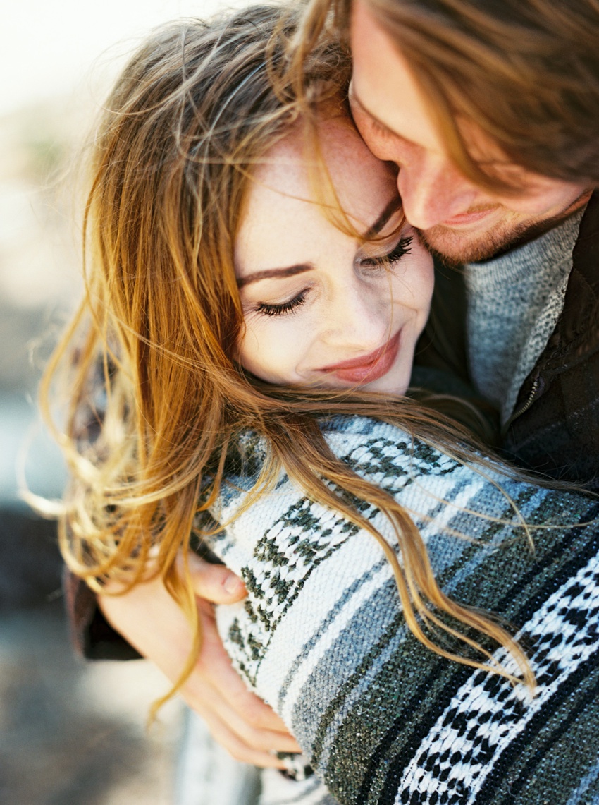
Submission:
[[[581,221],[564,310],[520,389],[503,448],[520,466],[599,490],[599,191]]]

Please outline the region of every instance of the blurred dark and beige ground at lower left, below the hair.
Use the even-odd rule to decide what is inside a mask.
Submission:
[[[170,805],[178,706],[146,733],[158,672],[75,657],[54,530],[0,511],[0,803]]]

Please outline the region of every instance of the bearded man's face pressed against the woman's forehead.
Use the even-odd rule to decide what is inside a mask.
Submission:
[[[353,3],[351,52],[350,103],[360,134],[375,156],[399,167],[408,221],[450,262],[489,258],[587,200],[588,188],[508,163],[472,124],[460,125],[470,155],[522,189],[503,196],[466,179],[449,159],[406,60],[362,0]]]

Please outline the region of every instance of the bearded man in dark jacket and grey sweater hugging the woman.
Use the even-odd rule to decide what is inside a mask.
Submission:
[[[306,31],[322,27],[328,6],[308,6]],[[504,447],[523,464],[592,483],[597,3],[346,0],[334,10],[334,35],[349,33],[350,101],[363,138],[397,164],[406,216],[429,247],[445,262],[466,264],[470,373],[501,410]],[[244,596],[226,568],[200,559],[194,568],[201,599]],[[95,603],[76,585],[71,592],[82,634]],[[101,609],[139,653],[177,678],[190,638],[158,582],[107,597]],[[200,601],[200,609],[205,642],[183,696],[236,758],[279,766],[273,750],[297,745],[236,677],[209,605]],[[125,653],[101,619],[88,638],[90,655]]]

